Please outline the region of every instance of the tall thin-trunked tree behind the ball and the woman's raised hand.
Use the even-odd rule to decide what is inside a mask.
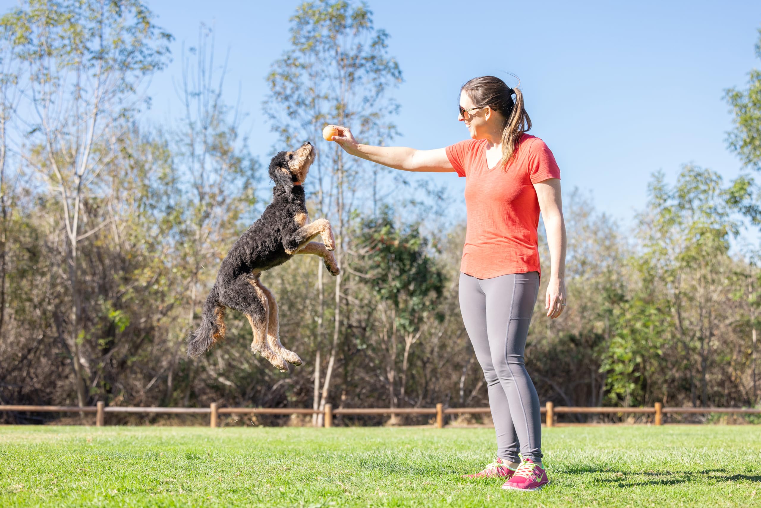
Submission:
[[[396,60],[387,55],[387,39],[384,30],[374,27],[372,12],[365,5],[321,0],[304,2],[296,9],[291,17],[291,48],[272,64],[272,71],[267,76],[271,92],[263,106],[283,145],[320,139],[326,123],[351,126],[357,137],[374,144],[381,144],[393,136],[395,127],[389,123],[388,117],[396,112],[397,105],[387,96],[387,88],[399,84],[402,74]],[[360,180],[366,177],[358,179],[364,166],[364,161],[345,158],[342,150],[334,145],[323,150],[311,170],[310,182],[317,182],[317,193],[311,197],[317,204],[318,213],[327,216],[337,226],[334,229],[336,261],[341,267],[349,262],[345,257],[345,231],[355,206],[358,206],[352,199],[355,190],[364,187]],[[377,177],[374,177],[376,181]],[[315,331],[313,405],[320,411],[330,392],[338,352],[344,277],[342,273],[335,280],[333,341],[320,389],[320,350],[326,304],[323,268],[322,264],[317,264],[320,305]],[[320,425],[320,418],[314,423]]]

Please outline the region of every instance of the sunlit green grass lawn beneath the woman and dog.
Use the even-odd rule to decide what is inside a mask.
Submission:
[[[550,484],[471,481],[491,429],[0,427],[0,506],[761,506],[761,428],[543,430]]]

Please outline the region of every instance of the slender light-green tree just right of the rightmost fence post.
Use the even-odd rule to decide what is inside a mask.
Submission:
[[[729,239],[737,235],[739,224],[732,219],[727,190],[715,171],[685,166],[673,188],[657,174],[650,193],[648,210],[640,216],[642,255],[668,295],[695,405],[697,350],[700,399],[707,406],[710,351],[724,316],[721,301],[729,290]]]

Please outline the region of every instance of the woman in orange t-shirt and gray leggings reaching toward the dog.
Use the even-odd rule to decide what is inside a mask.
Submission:
[[[565,306],[560,170],[547,145],[525,134],[531,120],[521,91],[499,78],[482,76],[463,85],[458,120],[470,139],[443,149],[360,145],[341,126],[333,141],[350,155],[390,168],[466,177],[460,311],[489,387],[498,446],[495,462],[467,477],[498,476],[506,479],[502,488],[537,490],[548,480],[539,397],[526,372],[524,347],[540,285],[540,212],[551,258],[547,316],[557,318]]]

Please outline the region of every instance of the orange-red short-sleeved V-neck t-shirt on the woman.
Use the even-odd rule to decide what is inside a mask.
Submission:
[[[467,231],[460,271],[479,279],[508,273],[540,272],[539,200],[533,184],[559,178],[560,168],[547,145],[524,134],[505,167],[489,169],[486,139],[447,146],[454,171],[466,177]]]

